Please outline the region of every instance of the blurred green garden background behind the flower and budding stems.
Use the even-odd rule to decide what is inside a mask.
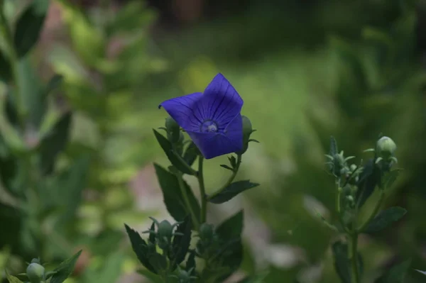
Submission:
[[[12,21],[27,3],[6,0]],[[395,140],[404,168],[386,206],[408,214],[361,237],[366,282],[408,257],[426,270],[425,16],[425,1],[52,1],[21,72],[28,89],[64,76],[47,117],[72,110],[55,167],[74,169],[40,196],[40,205],[55,206],[37,221],[0,191],[0,270],[22,272],[36,255],[54,264],[82,248],[67,282],[149,282],[136,273],[123,224],[142,230],[148,216],[170,219],[152,167],[167,164],[152,134],[166,116],[158,104],[202,91],[217,72],[243,97],[261,141],[239,174],[261,187],[209,210],[217,222],[246,209],[241,274],[267,269],[265,282],[338,282],[329,250],[336,235],[316,216],[334,217],[323,154],[334,135],[346,155],[365,160],[362,150],[380,133]],[[226,179],[225,158],[207,162],[207,190]],[[424,278],[410,272],[406,282]]]

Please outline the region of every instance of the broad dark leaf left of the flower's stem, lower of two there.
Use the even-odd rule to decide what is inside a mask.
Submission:
[[[190,211],[185,205],[184,196],[182,196],[182,190],[179,187],[178,177],[156,163],[154,163],[154,167],[158,182],[160,183],[161,190],[163,191],[163,199],[168,212],[173,218],[175,218],[175,221],[183,221],[185,217],[190,214]],[[192,207],[192,211],[196,216],[199,216],[200,204],[185,181],[183,182],[183,185],[188,196],[190,206]]]

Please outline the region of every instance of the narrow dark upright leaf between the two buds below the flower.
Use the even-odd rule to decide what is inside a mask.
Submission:
[[[191,242],[192,223],[190,216],[185,217],[185,221],[178,225],[175,232],[182,233],[183,235],[175,235],[172,243],[172,254],[169,259],[179,265],[180,262],[185,260],[185,255],[190,248]]]

